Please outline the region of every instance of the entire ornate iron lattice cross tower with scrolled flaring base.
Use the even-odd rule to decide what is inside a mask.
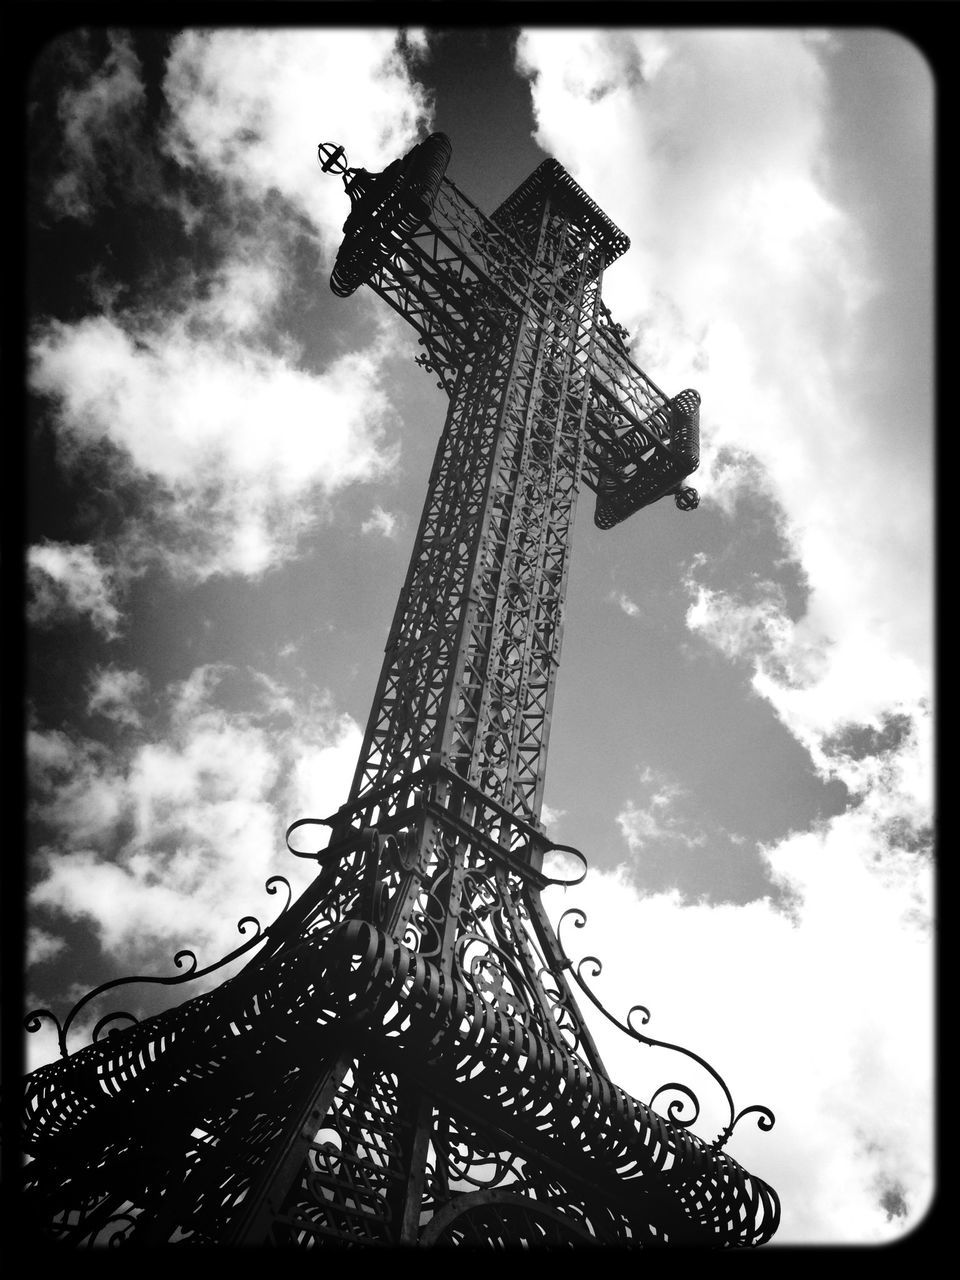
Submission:
[[[449,399],[349,797],[288,829],[317,874],[269,928],[242,922],[233,978],[143,1021],[106,1015],[73,1053],[81,1009],[150,979],[63,1024],[28,1016],[64,1055],[26,1082],[37,1236],[727,1247],[777,1229],[776,1193],[723,1151],[771,1112],[735,1114],[686,1050],[730,1107],[716,1140],[694,1134],[689,1087],[618,1088],[575,1000],[599,1005],[593,957],[561,941],[582,913],[554,931],[540,901],[563,882],[547,854],[585,873],[540,822],[581,481],[602,529],[667,494],[695,507],[699,397],[631,360],[600,297],[628,241],[557,161],[488,216],[449,155],[435,133],[374,174],[319,148],[351,200],[333,292],[367,284],[398,311]],[[152,980],[216,968],[177,964]]]

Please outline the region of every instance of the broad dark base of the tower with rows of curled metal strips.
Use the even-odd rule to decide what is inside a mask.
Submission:
[[[73,1088],[84,1075],[113,1088],[59,1139],[37,1130],[63,1111],[64,1074],[46,1096],[56,1073],[31,1078],[35,1188],[73,1243],[93,1228],[141,1244],[429,1243],[440,1212],[477,1189],[522,1194],[620,1243],[750,1244],[776,1230],[776,1196],[722,1151],[545,1039],[486,983],[444,975],[360,920],[120,1039],[76,1055]],[[150,1123],[99,1165],[105,1187],[123,1183],[110,1194],[82,1153],[124,1129],[145,1094]]]

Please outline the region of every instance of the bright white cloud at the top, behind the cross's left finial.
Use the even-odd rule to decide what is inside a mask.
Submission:
[[[429,115],[404,58],[421,45],[390,29],[184,32],[164,79],[165,150],[248,198],[279,193],[329,252],[343,191],[319,180],[317,143],[348,141],[370,170],[408,150]]]

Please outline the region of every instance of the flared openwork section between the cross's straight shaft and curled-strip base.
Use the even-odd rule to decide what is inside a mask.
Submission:
[[[436,762],[344,805],[334,822],[352,835],[320,855],[328,865],[315,890],[253,964],[282,960],[297,936],[369,920],[445,980],[603,1070],[540,901],[550,845],[536,827]],[[352,905],[332,911],[339,902]]]

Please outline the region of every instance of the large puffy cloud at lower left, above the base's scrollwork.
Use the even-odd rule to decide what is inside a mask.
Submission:
[[[209,963],[237,946],[242,915],[275,913],[269,876],[302,890],[311,864],[287,854],[283,829],[343,803],[360,745],[323,699],[303,707],[225,666],[196,668],[156,705],[110,750],[54,730],[28,742],[35,918],[47,937],[84,919],[120,968],[182,946]]]

